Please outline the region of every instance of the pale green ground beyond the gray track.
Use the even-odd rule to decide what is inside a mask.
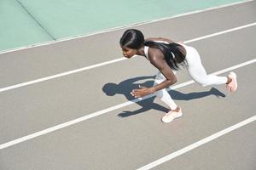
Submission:
[[[238,0],[1,0],[0,50],[157,20]]]

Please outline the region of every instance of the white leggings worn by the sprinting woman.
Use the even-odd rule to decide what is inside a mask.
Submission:
[[[182,44],[183,47],[186,49],[186,59],[188,62],[188,71],[192,79],[201,84],[202,86],[209,86],[209,85],[219,85],[225,84],[228,81],[227,77],[218,77],[215,75],[207,75],[207,71],[201,64],[201,58],[195,48],[189,47],[187,45]],[[161,72],[159,71],[154,80],[154,86],[164,82],[166,77],[164,77]],[[161,89],[160,91],[156,92],[157,97],[160,98],[167,106],[170,107],[171,110],[175,110],[177,105],[173,101],[171,95],[167,92],[166,88]]]

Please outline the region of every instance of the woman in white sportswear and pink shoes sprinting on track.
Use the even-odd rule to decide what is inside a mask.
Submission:
[[[170,108],[170,111],[162,117],[162,122],[172,122],[173,119],[183,114],[181,107],[176,105],[166,90],[166,88],[177,82],[175,72],[180,66],[186,67],[192,79],[203,87],[226,84],[230,93],[235,92],[237,89],[235,72],[230,72],[227,77],[207,75],[197,50],[182,42],[173,42],[162,37],[144,39],[141,31],[129,29],[124,32],[119,44],[125,58],[130,59],[135,54],[142,55],[159,70],[153,87],[133,89],[131,95],[135,98],[141,98],[145,95],[156,93],[157,97]]]

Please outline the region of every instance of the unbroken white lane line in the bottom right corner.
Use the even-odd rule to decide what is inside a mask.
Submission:
[[[137,168],[137,170],[148,170],[153,167],[157,167],[160,164],[165,163],[166,161],[171,161],[172,159],[176,158],[177,156],[181,156],[181,155],[185,154],[186,152],[189,152],[190,150],[194,150],[195,148],[197,148],[203,144],[207,144],[208,142],[211,142],[214,139],[218,139],[219,137],[223,136],[226,133],[230,133],[230,132],[236,130],[237,128],[243,127],[243,126],[245,126],[251,122],[254,122],[254,121],[256,121],[256,116],[252,116],[252,117],[250,117],[242,122],[239,122],[231,127],[225,128],[224,130],[219,131],[218,133],[214,133],[205,139],[201,139],[201,140],[195,142],[194,144],[190,144],[187,147],[184,147],[181,150],[177,150],[168,156],[162,157],[159,160],[149,163],[148,165]]]

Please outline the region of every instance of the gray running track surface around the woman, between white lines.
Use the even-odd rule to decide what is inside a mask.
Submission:
[[[255,8],[253,1],[134,28],[145,37],[186,41],[253,23]],[[256,58],[255,27],[188,45],[198,49],[208,73],[220,71]],[[0,54],[0,87],[117,59],[123,31]],[[224,86],[201,88],[195,83],[172,90],[173,99],[183,108],[183,116],[172,123],[160,122],[167,109],[159,99],[147,99],[0,150],[0,169],[143,167],[255,115],[255,64],[235,71],[236,94],[227,93]],[[155,73],[146,59],[137,57],[2,92],[0,144],[125,103],[132,99],[131,89],[143,82],[150,86]],[[178,72],[177,84],[189,80],[185,70]],[[115,95],[106,94],[106,87]],[[154,169],[254,170],[255,128],[252,122]]]

